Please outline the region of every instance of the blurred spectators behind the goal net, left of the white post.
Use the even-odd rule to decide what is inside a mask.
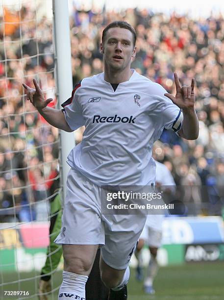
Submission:
[[[57,177],[58,130],[25,99],[22,82],[38,79],[55,105],[52,19],[38,20],[28,3],[5,7],[0,40],[0,222],[43,221]]]

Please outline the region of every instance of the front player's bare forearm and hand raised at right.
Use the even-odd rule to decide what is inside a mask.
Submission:
[[[179,136],[187,140],[196,140],[199,136],[199,120],[195,111],[195,79],[192,78],[190,86],[180,86],[180,82],[176,73],[174,73],[176,86],[176,96],[166,93],[166,97],[170,98],[175,105],[182,109],[183,122],[182,128],[178,131]]]

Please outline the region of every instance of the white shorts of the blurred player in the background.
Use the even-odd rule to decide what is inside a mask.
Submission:
[[[155,230],[148,225],[145,225],[140,239],[143,239],[147,246],[159,248],[162,244],[162,231]]]

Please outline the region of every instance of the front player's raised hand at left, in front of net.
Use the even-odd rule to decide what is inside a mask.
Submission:
[[[23,86],[26,91],[26,98],[27,100],[30,100],[30,102],[37,108],[37,109],[43,109],[46,107],[50,101],[52,101],[52,98],[49,98],[47,100],[44,99],[44,93],[41,90],[40,86],[38,85],[36,79],[33,79],[33,84],[35,86],[35,89],[29,87],[25,83],[23,83]]]

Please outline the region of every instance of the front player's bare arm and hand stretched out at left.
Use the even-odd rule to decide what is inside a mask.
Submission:
[[[73,130],[69,127],[65,120],[64,113],[60,109],[54,109],[47,106],[53,99],[49,98],[45,100],[43,91],[41,90],[35,79],[33,79],[33,83],[35,89],[32,89],[31,87],[23,83],[27,100],[30,100],[30,102],[36,107],[41,116],[50,125],[68,132],[72,132]]]

